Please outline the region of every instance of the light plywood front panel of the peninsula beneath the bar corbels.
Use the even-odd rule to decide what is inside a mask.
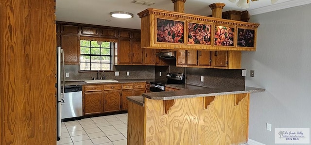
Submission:
[[[246,143],[249,94],[244,96],[239,105],[235,95],[215,96],[208,109],[203,109],[204,97],[175,99],[164,115],[164,101],[145,98],[146,140],[141,145]]]

